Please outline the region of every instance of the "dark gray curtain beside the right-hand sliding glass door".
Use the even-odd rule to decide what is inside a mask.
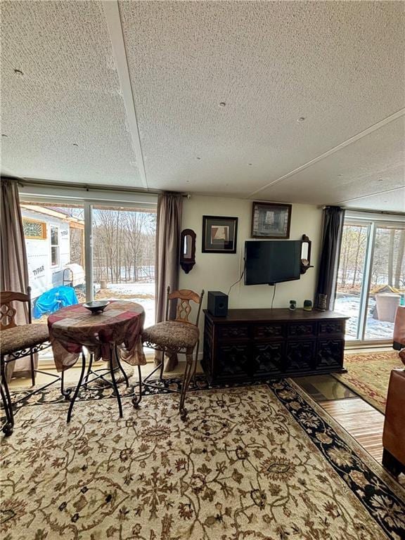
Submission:
[[[321,262],[319,264],[316,297],[327,295],[328,309],[335,305],[336,281],[342,244],[345,210],[338,206],[327,206],[323,210]]]

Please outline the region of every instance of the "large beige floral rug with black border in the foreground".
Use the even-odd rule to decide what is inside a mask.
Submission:
[[[405,492],[290,380],[30,401],[1,443],[2,540],[404,538]],[[52,397],[53,396],[53,397]]]

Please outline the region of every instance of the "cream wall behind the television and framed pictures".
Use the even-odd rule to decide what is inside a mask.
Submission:
[[[202,253],[203,215],[238,217],[238,245],[236,254]],[[321,243],[322,211],[312,205],[293,205],[291,213],[290,240],[300,240],[303,234],[312,240],[311,264],[298,281],[278,283],[274,307],[288,307],[289,300],[297,300],[302,307],[304,300],[315,300],[317,266]],[[205,197],[192,195],[184,199],[182,229],[193,229],[195,240],[195,266],[189,274],[179,269],[179,288],[192,289],[200,293],[205,290],[203,308],[207,306],[207,291],[221,290],[228,293],[229,287],[240,278],[243,271],[245,240],[250,240],[252,201],[245,199]],[[273,287],[269,285],[244,285],[243,278],[229,295],[229,309],[238,307],[271,307]],[[200,329],[203,330],[203,320]]]

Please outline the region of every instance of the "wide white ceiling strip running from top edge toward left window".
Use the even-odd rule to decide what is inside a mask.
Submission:
[[[120,79],[122,100],[124,101],[125,110],[127,111],[127,120],[136,157],[136,165],[138,165],[139,168],[142,185],[144,188],[148,189],[141,136],[139,135],[139,125],[136,117],[134,91],[129,75],[127,49],[124,40],[124,30],[122,28],[120,6],[117,0],[103,0],[103,8],[108,32],[110,34],[111,46],[113,47],[115,68],[117,69],[117,74]]]

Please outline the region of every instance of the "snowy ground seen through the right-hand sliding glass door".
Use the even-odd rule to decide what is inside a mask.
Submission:
[[[394,323],[378,321],[373,318],[375,300],[368,301],[366,340],[387,340],[392,339],[394,333]],[[347,295],[338,297],[335,301],[335,311],[347,315],[350,319],[346,322],[346,339],[355,340],[357,332],[357,322],[359,319],[360,297]]]

